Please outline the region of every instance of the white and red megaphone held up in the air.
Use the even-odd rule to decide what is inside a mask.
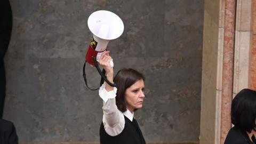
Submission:
[[[93,34],[93,38],[86,53],[85,60],[94,66],[93,57],[99,60],[100,55],[106,51],[108,42],[122,35],[124,23],[115,13],[100,10],[90,15],[87,24]],[[114,66],[113,61],[110,62],[110,66]]]

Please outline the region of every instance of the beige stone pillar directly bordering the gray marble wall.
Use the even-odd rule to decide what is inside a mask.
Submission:
[[[225,0],[205,0],[200,143],[220,141]]]

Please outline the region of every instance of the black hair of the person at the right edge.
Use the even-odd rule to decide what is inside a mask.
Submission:
[[[256,91],[241,90],[232,101],[231,121],[238,129],[256,131]]]

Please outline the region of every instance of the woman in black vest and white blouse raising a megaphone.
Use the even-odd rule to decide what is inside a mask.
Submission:
[[[110,61],[113,59],[109,51],[103,53],[99,60],[99,64],[106,70],[108,81],[117,86],[103,83],[99,90],[103,100],[100,143],[144,144],[145,139],[133,115],[143,105],[145,78],[137,70],[121,69],[113,79],[114,70],[109,65]]]

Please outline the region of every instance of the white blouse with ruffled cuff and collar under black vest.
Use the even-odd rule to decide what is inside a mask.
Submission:
[[[102,122],[104,125],[105,131],[111,135],[116,136],[124,130],[124,115],[130,119],[132,122],[133,113],[128,109],[122,113],[122,111],[117,109],[116,106],[116,92],[117,89],[114,87],[113,91],[107,91],[105,89],[105,83],[103,83],[99,90],[100,98],[103,100],[103,118]]]

